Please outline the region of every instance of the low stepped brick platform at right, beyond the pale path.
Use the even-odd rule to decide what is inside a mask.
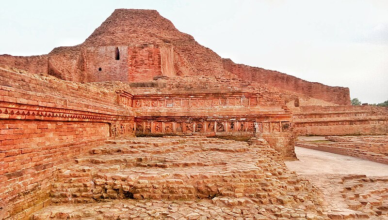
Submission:
[[[327,141],[297,141],[295,145],[388,164],[388,136],[327,136]]]

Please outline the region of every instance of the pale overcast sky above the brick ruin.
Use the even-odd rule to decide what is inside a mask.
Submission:
[[[116,8],[155,9],[236,63],[388,99],[388,0],[2,1],[0,54],[81,44]]]

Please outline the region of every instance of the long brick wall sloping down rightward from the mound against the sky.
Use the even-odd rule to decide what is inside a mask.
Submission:
[[[349,88],[330,87],[321,83],[312,83],[285,73],[236,64],[230,59],[223,59],[223,63],[227,72],[233,73],[245,80],[258,82],[268,87],[302,93],[329,103],[350,105]]]

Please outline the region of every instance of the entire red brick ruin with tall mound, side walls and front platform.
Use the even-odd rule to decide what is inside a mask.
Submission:
[[[0,55],[0,219],[83,219],[78,205],[45,212],[112,199],[150,200],[158,218],[201,199],[219,218],[323,219],[283,160],[297,135],[388,133],[387,108],[349,104],[348,88],[235,64],[156,11],[115,10],[80,45]]]

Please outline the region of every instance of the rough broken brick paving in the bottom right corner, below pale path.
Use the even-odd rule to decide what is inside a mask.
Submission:
[[[330,219],[388,219],[387,176],[304,176],[322,189]]]

